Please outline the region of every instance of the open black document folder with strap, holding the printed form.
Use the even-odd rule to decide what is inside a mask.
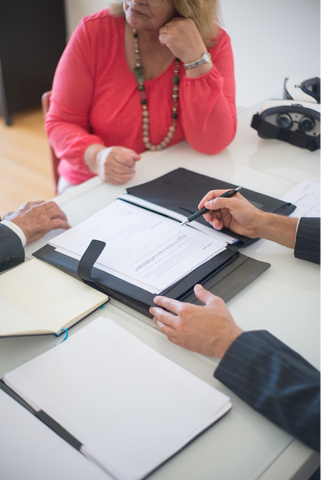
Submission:
[[[130,188],[127,192],[188,216],[197,210],[200,199],[209,190],[234,187],[233,184],[179,168],[156,180]],[[264,211],[288,215],[295,209],[294,205],[251,190],[242,189],[242,194]],[[155,215],[159,215],[159,213],[155,212]],[[199,221],[205,222],[202,218]],[[234,238],[236,237],[234,233],[228,230],[226,232]],[[237,243],[228,245],[224,251],[196,268],[185,278],[162,291],[160,295],[198,303],[193,287],[200,283],[204,288],[223,298],[224,301],[230,300],[270,267],[270,264],[254,260],[238,251],[240,247],[249,245],[253,240],[246,237],[239,237],[238,240]],[[88,285],[107,293],[110,297],[135,310],[151,316],[149,307],[153,304],[154,294],[94,267],[104,248],[108,248],[108,245],[105,246],[104,242],[93,239],[80,261],[56,251],[55,247],[51,245],[46,245],[38,250],[34,256],[82,279]]]

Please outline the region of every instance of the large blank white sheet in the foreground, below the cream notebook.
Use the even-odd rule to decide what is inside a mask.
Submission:
[[[226,395],[102,317],[4,378],[121,480],[145,477],[231,408]]]

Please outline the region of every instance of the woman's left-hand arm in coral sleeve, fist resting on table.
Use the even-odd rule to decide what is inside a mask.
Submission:
[[[85,20],[80,22],[58,63],[45,128],[57,157],[77,165],[83,180],[99,175],[118,185],[134,176],[140,155],[121,146],[107,148],[102,138],[91,132],[99,52],[93,51],[98,47],[91,35],[97,32],[92,25],[90,28]]]

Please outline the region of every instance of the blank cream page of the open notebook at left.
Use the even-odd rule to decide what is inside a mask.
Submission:
[[[58,333],[107,300],[107,295],[33,258],[0,276],[0,336]]]

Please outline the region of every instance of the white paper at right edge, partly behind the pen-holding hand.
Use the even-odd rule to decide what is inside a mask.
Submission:
[[[282,200],[296,205],[290,217],[321,217],[321,184],[303,180],[283,195]]]

